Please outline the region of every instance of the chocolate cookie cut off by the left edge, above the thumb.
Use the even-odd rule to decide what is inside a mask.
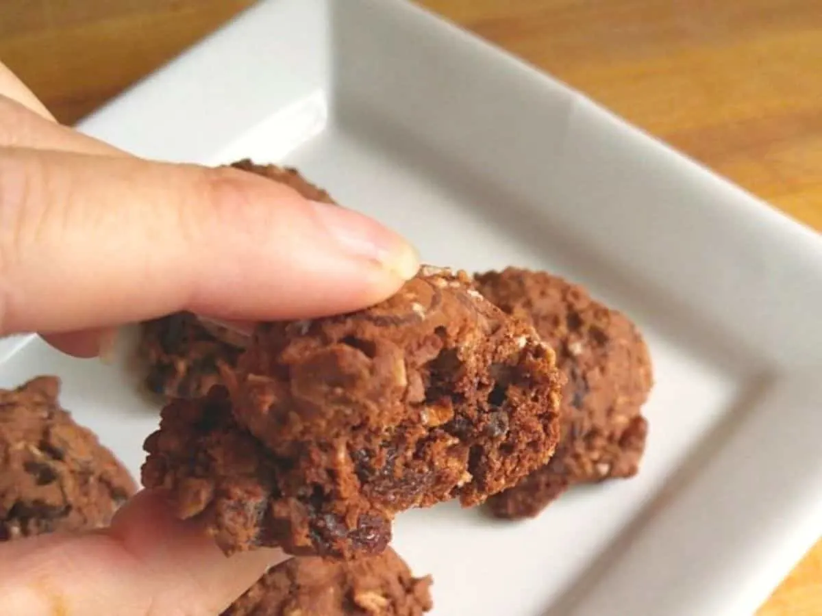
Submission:
[[[0,389],[0,541],[106,526],[136,490],[59,390],[52,376]]]

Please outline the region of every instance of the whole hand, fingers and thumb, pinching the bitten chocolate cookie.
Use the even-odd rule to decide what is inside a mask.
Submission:
[[[0,335],[35,332],[95,356],[122,324],[178,310],[241,322],[356,310],[417,269],[406,241],[361,214],[60,126],[0,64]],[[226,558],[143,490],[109,528],[0,545],[0,614],[214,616],[284,558]]]

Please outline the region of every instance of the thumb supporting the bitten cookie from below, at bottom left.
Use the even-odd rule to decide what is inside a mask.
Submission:
[[[104,531],[0,545],[0,614],[214,616],[285,558],[276,549],[226,558],[144,491]]]

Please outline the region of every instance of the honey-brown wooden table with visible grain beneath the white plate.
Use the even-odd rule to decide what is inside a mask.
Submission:
[[[822,230],[822,0],[419,2]],[[0,59],[74,122],[252,3],[2,0]],[[758,616],[819,614],[822,542]]]

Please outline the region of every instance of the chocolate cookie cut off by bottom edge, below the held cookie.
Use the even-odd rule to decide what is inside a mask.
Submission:
[[[348,562],[299,557],[269,569],[222,616],[422,616],[431,585],[390,548]]]

